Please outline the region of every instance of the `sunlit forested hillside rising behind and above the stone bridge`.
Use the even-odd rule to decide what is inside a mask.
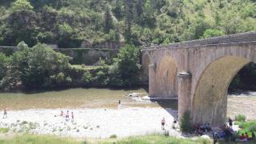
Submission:
[[[256,30],[256,0],[1,0],[0,45],[168,44]]]

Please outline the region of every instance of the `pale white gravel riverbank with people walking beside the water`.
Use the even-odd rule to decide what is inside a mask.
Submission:
[[[31,109],[8,111],[8,118],[0,119],[0,127],[9,133],[56,134],[74,138],[118,138],[162,133],[161,119],[166,118],[166,130],[171,130],[176,110],[163,108],[126,107],[116,109],[70,109],[74,121],[60,116],[62,109]],[[66,109],[63,110],[66,113]]]

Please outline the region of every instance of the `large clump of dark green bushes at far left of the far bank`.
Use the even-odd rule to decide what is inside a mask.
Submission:
[[[1,89],[12,90],[18,84],[32,89],[44,88],[68,82],[62,74],[62,71],[69,68],[69,58],[64,54],[56,53],[42,44],[28,48],[21,42],[18,47],[20,50],[10,55],[5,65],[7,69],[0,81]]]

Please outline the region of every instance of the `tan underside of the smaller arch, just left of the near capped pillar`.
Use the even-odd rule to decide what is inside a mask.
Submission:
[[[158,63],[155,74],[154,96],[158,97],[177,97],[178,66],[174,58],[164,56]],[[156,95],[157,94],[157,95]]]

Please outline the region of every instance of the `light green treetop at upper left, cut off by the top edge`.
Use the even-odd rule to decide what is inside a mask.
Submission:
[[[33,10],[29,0],[17,0],[12,4],[11,10],[16,11],[30,11]]]

